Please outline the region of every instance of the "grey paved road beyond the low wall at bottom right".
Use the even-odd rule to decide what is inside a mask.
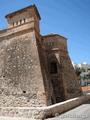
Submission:
[[[90,120],[90,101],[69,110],[61,115],[46,120]]]

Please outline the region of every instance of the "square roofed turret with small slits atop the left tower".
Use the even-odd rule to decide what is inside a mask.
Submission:
[[[35,5],[7,14],[5,18],[7,18],[7,28],[28,24],[31,27],[35,27],[37,31],[40,31],[39,20],[41,18]]]

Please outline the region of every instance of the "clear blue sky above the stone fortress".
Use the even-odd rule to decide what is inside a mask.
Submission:
[[[33,4],[41,16],[40,34],[68,38],[71,61],[90,64],[90,0],[2,0],[0,30],[6,29],[6,14]]]

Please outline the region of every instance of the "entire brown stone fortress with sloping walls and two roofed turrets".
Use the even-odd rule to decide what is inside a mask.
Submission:
[[[5,16],[0,31],[0,106],[49,106],[82,94],[67,38],[40,35],[35,5]]]

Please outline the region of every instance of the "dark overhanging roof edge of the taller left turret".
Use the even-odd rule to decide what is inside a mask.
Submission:
[[[30,6],[28,6],[28,7],[25,7],[25,8],[22,8],[22,9],[20,9],[20,10],[17,10],[17,11],[15,11],[15,12],[10,13],[10,14],[7,14],[7,15],[5,16],[5,18],[10,18],[10,17],[16,15],[17,13],[21,13],[21,12],[23,12],[23,11],[26,11],[27,9],[32,8],[32,7],[35,9],[35,12],[36,12],[37,16],[39,17],[39,20],[41,20],[40,14],[39,14],[39,12],[38,12],[37,7],[35,6],[35,4],[34,4],[34,5],[30,5]]]

